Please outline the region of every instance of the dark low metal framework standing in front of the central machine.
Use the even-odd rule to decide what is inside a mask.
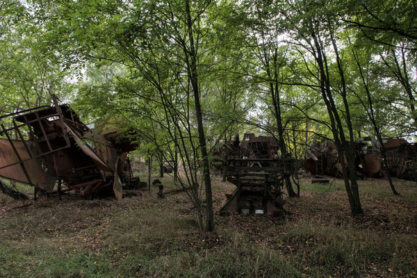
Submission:
[[[240,158],[227,161],[227,181],[236,186],[227,196],[221,213],[284,215],[283,181],[291,161],[270,158]]]

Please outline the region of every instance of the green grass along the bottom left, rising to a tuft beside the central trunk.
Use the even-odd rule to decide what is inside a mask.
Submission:
[[[1,277],[301,277],[279,254],[228,231],[221,243],[199,247],[195,218],[136,209],[115,213],[89,250],[80,238],[5,240]],[[13,229],[13,227],[8,227]],[[212,244],[212,243],[211,243]]]

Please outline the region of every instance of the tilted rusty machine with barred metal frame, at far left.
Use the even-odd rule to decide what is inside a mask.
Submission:
[[[52,99],[54,106],[0,116],[0,177],[47,192],[57,186],[58,194],[61,182],[83,196],[113,189],[122,199],[123,183],[139,183],[127,158],[136,144],[115,131],[91,130]]]

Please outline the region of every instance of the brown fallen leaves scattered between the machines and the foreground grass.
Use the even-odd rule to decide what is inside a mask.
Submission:
[[[234,189],[234,186],[229,183],[218,183],[221,189],[213,192],[213,199],[215,199],[213,206],[217,213],[226,201],[224,193],[230,193]],[[230,240],[230,238],[224,238],[224,235],[222,237],[222,229],[238,231],[238,234],[242,235],[245,240],[268,250],[276,250],[275,252],[281,254],[283,258],[297,252],[302,254],[317,244],[326,244],[314,232],[298,238],[288,236],[288,231],[297,227],[300,220],[320,222],[325,227],[351,227],[358,231],[370,230],[392,235],[407,234],[417,238],[416,199],[409,201],[406,194],[395,198],[363,194],[362,204],[365,212],[363,216],[351,215],[349,203],[343,191],[329,192],[325,194],[325,197],[323,196],[320,192],[302,191],[300,198],[288,200],[286,209],[292,214],[286,218],[277,218],[272,215],[232,214],[228,217],[217,215],[215,221],[218,234],[201,235],[198,231],[195,234],[185,233],[183,244],[197,254],[206,250],[221,249],[227,244],[227,240]],[[8,237],[23,242],[36,236],[53,238],[57,243],[61,240],[68,242],[79,240],[85,247],[97,252],[112,248],[113,252],[120,254],[120,259],[125,254],[115,246],[106,246],[102,237],[116,215],[129,218],[134,210],[147,208],[160,211],[162,206],[169,208],[172,215],[181,219],[195,215],[195,208],[184,193],[158,200],[154,192],[144,192],[141,195],[131,195],[123,202],[115,202],[113,199],[84,201],[78,197],[65,196],[62,201],[55,198],[40,199],[30,208],[8,211],[8,208],[15,205],[12,202],[0,204],[0,221],[2,223],[5,221],[12,223],[11,220],[18,222],[18,228],[14,228],[13,231],[12,224],[16,223],[10,224],[10,229],[1,226],[1,231],[4,232],[0,234],[0,240]],[[26,223],[22,222],[23,220]],[[147,231],[147,227],[141,229]],[[355,235],[347,236],[347,239],[359,240]],[[307,273],[311,270],[310,265],[306,265],[305,268]],[[329,272],[332,277],[342,276],[342,272],[335,271],[335,273]],[[368,272],[368,277],[416,276],[415,272],[400,272],[389,263],[383,267],[371,263],[366,272]]]

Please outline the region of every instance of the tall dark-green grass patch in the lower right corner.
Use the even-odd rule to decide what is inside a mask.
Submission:
[[[288,245],[302,245],[298,248],[302,254],[294,256],[298,264],[320,268],[329,275],[361,277],[372,266],[384,266],[397,275],[416,271],[417,240],[411,235],[393,236],[302,222],[289,229],[282,240]]]

